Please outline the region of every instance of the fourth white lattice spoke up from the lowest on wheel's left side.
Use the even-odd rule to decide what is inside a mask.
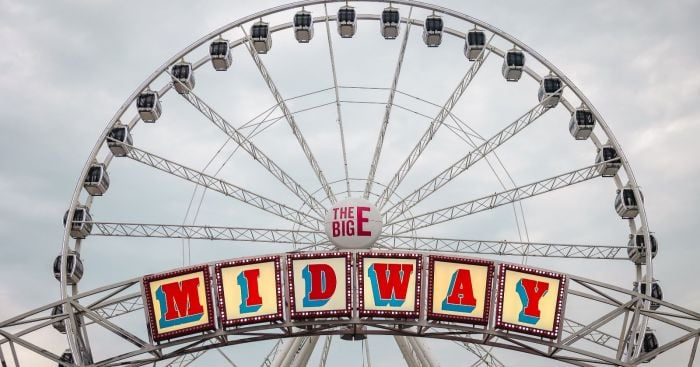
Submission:
[[[250,56],[253,58],[255,65],[257,66],[258,70],[260,71],[260,75],[265,80],[265,83],[267,84],[268,89],[270,89],[270,93],[272,93],[272,96],[275,98],[277,105],[279,106],[280,110],[284,114],[284,116],[287,120],[287,123],[289,124],[289,127],[292,129],[292,133],[294,134],[297,141],[299,142],[301,149],[304,151],[304,155],[306,155],[306,159],[309,161],[311,168],[314,170],[314,173],[316,174],[318,181],[321,183],[321,187],[323,188],[323,191],[325,192],[326,197],[328,198],[328,200],[331,203],[335,203],[336,197],[333,194],[333,190],[331,189],[331,186],[328,184],[328,181],[326,180],[326,176],[323,174],[323,170],[321,170],[321,167],[319,166],[318,162],[316,161],[316,157],[314,157],[313,153],[311,152],[311,148],[306,143],[306,139],[304,139],[304,135],[302,135],[301,130],[299,129],[299,126],[297,125],[296,120],[294,119],[294,115],[289,110],[289,107],[287,107],[287,103],[284,101],[284,98],[282,98],[282,95],[280,94],[279,90],[277,89],[277,86],[275,85],[275,82],[272,80],[272,77],[270,76],[270,73],[267,71],[267,68],[265,67],[262,60],[260,59],[260,56],[253,49],[253,46],[251,45],[251,40],[250,40],[250,37],[248,36],[248,33],[245,31],[245,29],[243,29],[243,27],[241,27],[241,31],[243,31],[243,34],[245,35],[245,38],[247,39],[247,42],[245,42],[245,47],[248,49],[248,53],[250,53]]]

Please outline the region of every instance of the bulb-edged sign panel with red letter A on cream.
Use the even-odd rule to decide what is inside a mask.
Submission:
[[[491,261],[430,256],[428,319],[488,324],[493,272]]]

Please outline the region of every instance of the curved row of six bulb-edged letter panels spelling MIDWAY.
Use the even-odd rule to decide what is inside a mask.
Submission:
[[[289,253],[143,277],[153,341],[309,319],[425,319],[560,335],[566,276],[404,252]]]

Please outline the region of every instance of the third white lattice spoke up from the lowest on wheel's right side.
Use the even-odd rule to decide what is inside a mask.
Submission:
[[[445,186],[448,182],[452,181],[461,173],[469,169],[476,162],[480,161],[482,158],[485,158],[489,153],[503,145],[510,138],[523,131],[526,127],[530,126],[530,124],[550,110],[550,108],[544,107],[544,102],[546,102],[546,100],[531,108],[525,114],[506,126],[503,130],[499,131],[496,135],[484,141],[481,145],[467,153],[467,155],[460,158],[450,167],[446,168],[437,176],[413,191],[411,194],[405,196],[401,201],[394,204],[386,211],[385,218],[388,221],[393,221],[406,210],[420,203],[423,199],[430,196],[435,191]]]

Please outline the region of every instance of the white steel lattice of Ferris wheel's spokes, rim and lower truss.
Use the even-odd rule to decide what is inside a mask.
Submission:
[[[227,24],[219,29],[202,37],[192,45],[188,46],[181,52],[167,60],[159,67],[151,76],[145,80],[136,90],[127,98],[126,103],[122,105],[112,120],[107,124],[101,136],[98,138],[90,157],[86,161],[85,166],[79,176],[71,206],[68,211],[68,218],[73,217],[76,207],[79,205],[81,194],[83,194],[83,181],[86,177],[91,164],[95,161],[100,149],[107,142],[107,136],[111,128],[119,121],[126,121],[125,113],[130,105],[138,97],[139,93],[146,88],[154,86],[154,83],[159,77],[168,76],[168,69],[178,60],[193,53],[201,45],[204,45],[214,40],[219,35],[232,29],[243,29],[243,26],[251,22],[266,17],[272,14],[285,12],[289,10],[300,9],[303,6],[311,7],[314,5],[323,4],[325,14],[322,17],[313,18],[314,23],[325,23],[326,30],[330,35],[329,23],[336,21],[334,15],[328,15],[327,3],[336,1],[320,1],[307,0],[299,1],[291,4],[278,6],[256,14],[241,18],[235,22]],[[344,2],[344,1],[343,1]],[[365,2],[382,2],[371,1]],[[364,180],[364,191],[359,191],[360,195],[366,198],[376,198],[379,207],[384,209],[383,215],[387,228],[384,234],[377,241],[375,248],[390,249],[390,250],[419,250],[428,252],[456,252],[463,254],[488,254],[488,255],[514,255],[514,256],[541,256],[541,257],[561,257],[561,258],[582,258],[582,259],[608,259],[608,260],[623,260],[626,259],[625,246],[610,246],[610,245],[593,245],[593,244],[560,244],[560,243],[540,243],[528,241],[489,241],[489,240],[467,240],[455,238],[431,238],[415,235],[415,231],[419,228],[428,227],[436,223],[450,221],[455,218],[470,215],[483,210],[490,210],[494,207],[511,204],[523,200],[525,198],[544,194],[559,188],[574,185],[579,182],[594,179],[599,176],[598,166],[600,164],[582,167],[571,172],[563,173],[554,177],[539,180],[527,185],[505,189],[501,193],[495,193],[490,196],[471,200],[463,203],[433,211],[424,214],[414,215],[410,212],[420,201],[437,191],[439,188],[450,182],[457,175],[466,171],[469,167],[481,159],[486,159],[487,156],[494,152],[500,145],[506,143],[511,137],[518,134],[520,131],[527,128],[538,117],[546,113],[549,109],[544,108],[542,104],[535,105],[530,111],[523,114],[510,125],[507,125],[503,130],[491,138],[481,139],[481,144],[472,144],[474,148],[470,153],[461,158],[453,166],[447,168],[434,179],[429,180],[420,188],[406,197],[398,197],[395,195],[396,188],[400,185],[403,178],[408,174],[413,164],[419,159],[422,152],[432,140],[437,130],[446,126],[446,128],[456,131],[454,126],[450,125],[450,119],[458,123],[456,117],[452,114],[452,108],[457,104],[462,94],[467,90],[469,83],[478,73],[482,64],[487,61],[487,57],[491,54],[499,57],[504,57],[505,51],[493,45],[490,41],[494,37],[506,40],[519,49],[523,50],[529,58],[536,60],[544,66],[549,72],[558,76],[564,83],[565,88],[571,91],[573,95],[585,104],[594,114],[600,130],[603,131],[608,143],[611,144],[620,155],[620,162],[625,173],[627,184],[633,189],[635,198],[638,203],[642,203],[642,197],[639,192],[637,181],[634,177],[629,162],[624,155],[620,145],[610,131],[603,116],[595,109],[592,103],[585,95],[564,75],[559,69],[548,62],[544,57],[532,50],[530,47],[520,42],[515,37],[503,32],[502,30],[493,27],[478,19],[472,18],[457,11],[410,0],[398,0],[392,3],[400,6],[410,7],[408,18],[402,18],[401,23],[406,25],[402,38],[402,45],[396,64],[393,82],[390,88],[389,100],[386,102],[386,110],[382,119],[381,131],[374,150],[372,164],[369,167],[368,177]],[[394,104],[394,96],[397,93],[402,93],[397,89],[398,78],[401,72],[401,67],[404,59],[404,52],[408,39],[408,33],[411,26],[421,27],[421,20],[411,18],[413,8],[420,8],[429,11],[434,11],[444,16],[448,16],[467,24],[473,24],[490,33],[491,39],[487,41],[480,58],[471,64],[471,68],[466,71],[461,81],[457,84],[452,95],[440,108],[436,116],[431,117],[431,122],[411,151],[406,160],[402,163],[400,169],[393,176],[387,185],[382,185],[374,179],[379,158],[384,143],[384,134],[386,126],[389,123],[392,107],[403,108]],[[378,15],[361,14],[358,16],[360,20],[378,20]],[[291,23],[279,24],[271,27],[271,33],[291,28]],[[245,34],[245,30],[243,30]],[[464,39],[465,34],[458,30],[445,27],[444,33],[449,36]],[[324,202],[333,203],[336,201],[337,192],[346,192],[350,195],[350,180],[347,171],[347,157],[345,155],[345,142],[343,140],[343,157],[345,164],[345,177],[340,182],[329,182],[320,165],[316,161],[312,150],[306,143],[304,136],[298,128],[295,121],[295,112],[292,112],[287,106],[284,97],[276,87],[270,73],[267,71],[263,60],[253,50],[250,42],[246,37],[234,40],[231,42],[231,47],[243,46],[250,51],[250,56],[253,58],[256,67],[265,80],[270,93],[276,100],[274,108],[282,112],[282,116],[277,120],[284,118],[292,129],[292,133],[298,141],[302,151],[308,160],[309,165],[317,177],[321,189],[317,192],[309,192],[301,184],[295,181],[287,174],[279,165],[273,162],[265,153],[257,147],[251,140],[250,136],[244,135],[240,129],[237,129],[232,124],[219,115],[212,107],[210,107],[201,97],[190,91],[189,94],[184,94],[183,97],[205,118],[210,120],[217,126],[226,136],[238,144],[246,153],[260,163],[272,177],[284,184],[292,194],[300,198],[304,202],[304,207],[294,209],[283,203],[273,199],[258,195],[253,191],[236,186],[226,182],[215,176],[207,175],[204,172],[189,168],[185,165],[159,157],[140,147],[130,147],[128,158],[142,163],[146,166],[153,167],[164,171],[168,174],[177,176],[181,179],[190,181],[201,187],[218,191],[226,196],[230,196],[242,203],[257,207],[261,210],[270,212],[278,217],[284,218],[298,226],[298,229],[269,229],[269,228],[243,228],[243,227],[222,227],[222,226],[197,226],[197,225],[176,225],[176,224],[153,224],[153,223],[116,223],[109,221],[94,221],[92,235],[100,236],[125,236],[125,237],[159,237],[159,238],[184,238],[184,239],[209,239],[209,240],[224,240],[233,242],[268,242],[268,243],[292,243],[299,245],[302,250],[318,250],[331,249],[332,246],[327,241],[327,237],[322,232],[322,219],[324,210]],[[337,108],[338,125],[343,131],[343,119],[341,115],[341,103],[338,90],[338,80],[335,71],[335,61],[333,54],[332,40],[328,38],[328,46],[330,51],[330,61],[333,68],[333,89],[335,91],[335,100],[332,102]],[[209,61],[208,55],[193,63],[194,70]],[[524,73],[540,81],[542,76],[535,72],[530,67],[524,68]],[[166,83],[158,89],[162,96],[172,89],[171,83]],[[574,107],[566,99],[562,98],[561,104],[569,111],[574,111]],[[269,115],[268,115],[269,116]],[[133,128],[139,121],[138,115],[131,118],[129,128]],[[463,130],[462,130],[463,131]],[[456,134],[459,135],[458,132]],[[469,133],[463,131],[463,137],[469,138]],[[600,149],[603,146],[601,138],[595,134],[591,135],[590,139],[596,148]],[[465,140],[466,141],[466,140]],[[470,140],[471,141],[471,140]],[[104,163],[109,165],[112,159],[111,154],[107,156]],[[624,186],[624,181],[620,175],[613,178],[618,189]],[[334,191],[333,185],[341,183],[346,185],[346,190]],[[374,189],[374,191],[373,191]],[[317,198],[315,195],[321,192],[322,198]],[[90,206],[93,197],[88,196],[83,204]],[[646,261],[644,264],[636,265],[637,280],[640,282],[651,283],[653,280],[652,255],[651,255],[651,239],[649,236],[649,227],[646,219],[643,204],[640,205],[640,213],[637,219],[630,219],[629,226],[631,233],[641,231],[647,244]],[[420,342],[416,336],[431,337],[436,339],[449,339],[458,342],[467,350],[479,358],[477,363],[486,365],[498,366],[502,365],[498,359],[491,354],[490,349],[485,346],[493,346],[497,348],[509,349],[530,353],[542,357],[551,358],[567,362],[574,365],[621,365],[631,366],[641,362],[651,360],[656,355],[663,353],[679,344],[693,340],[693,348],[689,358],[689,365],[692,365],[695,350],[697,349],[698,339],[700,338],[700,314],[697,312],[684,309],[664,301],[656,301],[660,305],[658,310],[651,310],[650,294],[640,294],[632,292],[618,286],[604,284],[594,280],[569,275],[570,290],[568,297],[581,298],[587,301],[596,302],[599,305],[606,307],[606,312],[600,314],[593,322],[580,322],[573,319],[566,319],[563,323],[563,337],[558,340],[545,340],[515,333],[506,333],[503,331],[494,330],[488,327],[467,326],[464,324],[450,323],[434,323],[421,317],[415,321],[406,320],[391,320],[391,319],[370,319],[361,320],[357,317],[350,320],[323,320],[323,321],[290,321],[286,320],[279,323],[253,325],[236,329],[235,331],[218,330],[212,333],[203,335],[190,336],[173,341],[168,341],[160,344],[153,344],[149,341],[142,340],[135,333],[118,326],[112,320],[117,320],[123,315],[143,309],[142,294],[139,289],[140,279],[131,279],[120,282],[111,286],[105,286],[88,292],[79,292],[78,287],[68,285],[66,269],[66,258],[70,251],[80,252],[81,239],[72,240],[69,233],[69,227],[66,227],[64,239],[62,243],[63,263],[61,269],[61,294],[62,299],[50,305],[29,311],[23,315],[17,316],[10,320],[0,323],[0,361],[3,365],[7,361],[14,361],[16,365],[20,365],[16,346],[26,348],[36,354],[39,354],[49,360],[58,361],[59,356],[44,350],[42,347],[34,345],[23,339],[23,336],[50,327],[55,322],[63,322],[68,335],[68,344],[73,351],[75,365],[99,365],[99,366],[118,366],[118,365],[148,365],[155,361],[169,361],[168,366],[185,366],[189,365],[199,358],[205,351],[210,349],[218,349],[227,345],[241,344],[246,342],[254,342],[266,339],[284,339],[283,342],[278,342],[270,355],[265,359],[263,365],[305,365],[308,362],[311,352],[314,347],[322,346],[322,361],[325,365],[325,360],[331,348],[331,335],[343,335],[347,333],[348,328],[366,327],[363,333],[367,335],[386,334],[394,335],[396,342],[404,356],[404,359],[409,365],[435,365],[429,351]],[[301,229],[303,228],[303,229]],[[650,292],[650,287],[647,287]],[[61,315],[47,317],[47,312],[50,312],[54,306],[62,305],[65,311]],[[662,341],[660,347],[651,353],[641,353],[641,343],[628,343],[630,336],[635,333],[643,333],[646,329],[648,320],[653,320],[656,323],[663,324],[669,328],[674,328],[678,331],[679,336],[676,339]],[[79,322],[80,321],[80,322]],[[616,333],[607,331],[603,326],[610,324],[620,325],[617,327]],[[115,355],[102,360],[93,360],[88,342],[87,327],[101,327],[109,332],[112,332],[121,338],[129,341],[134,345],[133,351],[121,355]],[[319,336],[326,336],[319,338]],[[319,342],[319,339],[321,343]],[[5,353],[10,351],[11,356],[6,357],[3,353],[3,347],[6,347]],[[222,353],[223,354],[223,353]],[[234,361],[230,360],[226,355],[224,357],[231,365],[235,365]],[[63,363],[65,365],[72,365]]]

